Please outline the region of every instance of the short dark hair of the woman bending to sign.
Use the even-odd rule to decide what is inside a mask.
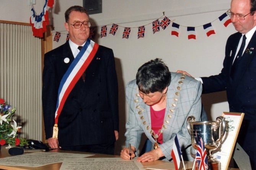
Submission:
[[[170,83],[171,73],[160,58],[144,63],[136,74],[136,84],[145,94],[162,92]]]

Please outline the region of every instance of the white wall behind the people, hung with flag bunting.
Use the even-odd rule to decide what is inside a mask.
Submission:
[[[27,0],[2,0],[0,19],[29,22],[30,6]],[[39,14],[44,1],[34,5]],[[57,47],[65,42],[64,12],[72,5],[82,5],[82,0],[55,0],[51,15],[54,31],[62,33]],[[120,137],[117,146],[124,142],[127,106],[124,98],[125,84],[135,78],[140,65],[153,58],[163,58],[171,71],[186,70],[192,76],[209,76],[218,74],[222,68],[227,37],[235,32],[232,24],[227,28],[218,17],[230,8],[230,0],[103,0],[103,13],[90,15],[92,23],[100,27],[108,25],[107,37],[95,41],[113,49],[116,57],[116,68],[119,79]],[[19,10],[18,10],[19,9]],[[15,12],[13,12],[15,11]],[[171,36],[171,26],[153,34],[152,24],[165,16],[180,24],[179,37]],[[160,19],[161,21],[161,19]],[[115,36],[109,34],[112,23],[118,24]],[[207,37],[202,25],[212,23],[216,34]],[[137,39],[137,27],[146,25],[145,37]],[[122,27],[121,27],[122,26]],[[197,39],[188,40],[187,26],[196,27]],[[129,39],[122,39],[123,27],[131,27]],[[54,37],[53,33],[53,37]],[[215,118],[228,111],[225,92],[202,95],[202,101],[210,118]],[[119,152],[119,151],[118,151]]]

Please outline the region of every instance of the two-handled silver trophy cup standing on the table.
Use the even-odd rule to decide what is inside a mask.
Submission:
[[[194,116],[189,116],[187,118],[187,128],[191,136],[192,147],[197,149],[197,146],[199,146],[200,138],[202,138],[207,152],[208,162],[217,162],[218,164],[218,160],[213,157],[212,151],[218,149],[220,146],[220,141],[225,134],[225,118],[220,116],[216,118],[216,121],[195,120],[196,118]],[[218,164],[218,167],[219,166],[220,165]]]

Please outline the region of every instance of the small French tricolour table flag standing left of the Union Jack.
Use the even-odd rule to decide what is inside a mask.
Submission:
[[[177,134],[174,138],[173,149],[171,150],[171,157],[173,158],[175,170],[178,170],[181,163],[181,148],[179,147]]]

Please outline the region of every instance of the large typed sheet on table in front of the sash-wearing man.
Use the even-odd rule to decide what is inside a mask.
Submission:
[[[92,155],[60,152],[36,152],[31,154],[22,154],[17,156],[1,158],[0,165],[41,167],[44,165],[63,162],[64,159],[80,159],[88,156]]]

